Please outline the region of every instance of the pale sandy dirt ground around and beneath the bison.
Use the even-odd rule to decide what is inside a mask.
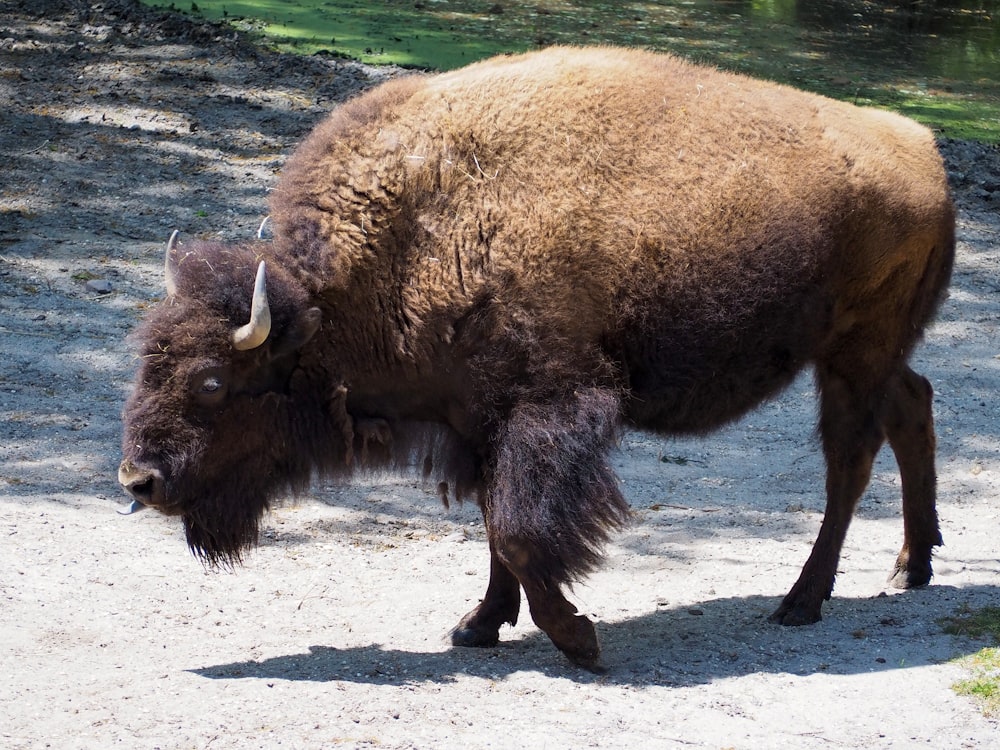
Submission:
[[[605,675],[527,617],[451,648],[483,594],[478,511],[409,479],[316,486],[245,568],[116,513],[126,342],[165,240],[246,237],[282,160],[393,71],[271,54],[125,0],[0,0],[0,746],[996,747],[951,685],[984,644],[937,619],[1000,603],[1000,152],[942,145],[960,207],[950,300],[915,358],[936,390],[946,546],[885,588],[888,452],[811,627],[766,622],[822,514],[803,377],[711,439],[627,434],[636,523],[573,592]]]

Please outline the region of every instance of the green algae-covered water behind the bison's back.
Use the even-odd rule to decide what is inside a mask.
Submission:
[[[555,43],[671,51],[1000,141],[1000,0],[195,0],[282,49],[448,69]]]

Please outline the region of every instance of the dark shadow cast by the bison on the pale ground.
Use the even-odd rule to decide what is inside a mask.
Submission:
[[[900,596],[835,598],[827,605],[825,620],[804,628],[767,622],[778,597],[730,597],[664,607],[599,625],[606,667],[599,674],[569,664],[538,631],[486,649],[310,646],[308,653],[188,671],[213,680],[395,686],[451,683],[459,676],[502,680],[526,671],[580,683],[667,687],[760,672],[851,675],[938,664],[978,651],[982,642],[947,635],[937,620],[960,606],[983,606],[997,597],[1000,586],[931,586]]]

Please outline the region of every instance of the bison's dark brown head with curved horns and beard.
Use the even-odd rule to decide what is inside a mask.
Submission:
[[[175,240],[167,296],[138,332],[118,478],[135,502],[182,516],[200,557],[233,563],[269,503],[342,442],[343,389],[318,382],[309,344],[321,312],[266,265],[265,243]]]

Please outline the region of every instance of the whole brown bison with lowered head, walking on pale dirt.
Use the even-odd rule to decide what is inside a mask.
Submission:
[[[415,467],[475,500],[489,539],[453,643],[495,644],[523,589],[594,668],[562,591],[629,520],[620,431],[706,433],[811,365],[826,511],[771,619],[820,619],[886,440],[891,583],[930,580],[932,392],[907,360],[954,214],[925,128],[667,55],[552,48],[343,104],[270,212],[272,241],[172,241],[137,334],[119,480],[207,563],[238,563],[316,476]]]

